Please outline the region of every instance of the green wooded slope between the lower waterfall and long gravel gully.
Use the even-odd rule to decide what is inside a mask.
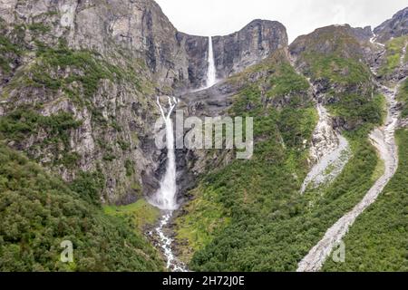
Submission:
[[[199,250],[190,263],[193,270],[295,270],[325,229],[352,208],[374,182],[378,160],[366,134],[372,127],[368,121],[381,121],[380,102],[345,103],[338,105],[345,118],[347,114],[361,118],[361,111],[370,111],[367,108],[372,109],[374,118],[349,134],[354,157],[335,183],[299,196],[307,172],[308,150],[303,141],[310,140],[316,112],[313,104],[302,102],[299,95],[307,88],[306,80],[288,65],[271,65],[277,73],[263,80],[272,84],[266,94],[278,98],[292,92],[291,102],[283,110],[266,107],[257,85],[238,94],[232,113],[254,116],[255,137],[260,141],[252,160],[236,160],[210,172],[195,192],[196,199],[187,206],[189,214],[180,219],[180,236],[192,239],[189,246]],[[322,197],[316,198],[319,194]],[[183,236],[185,232],[194,234]]]

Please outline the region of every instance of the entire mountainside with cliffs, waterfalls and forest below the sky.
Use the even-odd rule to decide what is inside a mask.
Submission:
[[[0,32],[0,271],[407,270],[408,8],[288,43],[2,0]]]

